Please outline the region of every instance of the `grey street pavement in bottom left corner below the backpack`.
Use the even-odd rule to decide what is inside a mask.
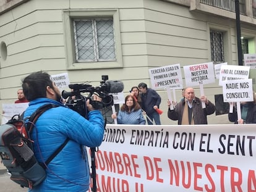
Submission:
[[[6,167],[0,163],[0,192],[25,192],[28,188],[22,188],[19,184],[10,180]]]

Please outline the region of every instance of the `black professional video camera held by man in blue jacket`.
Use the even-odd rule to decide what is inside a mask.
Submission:
[[[92,86],[88,84],[70,84],[69,88],[73,91],[62,91],[62,98],[67,99],[66,106],[70,109],[79,112],[80,115],[86,117],[86,101],[89,98],[90,104],[94,109],[102,109],[103,107],[113,106],[113,95],[109,93],[119,93],[124,90],[122,81],[108,80],[108,75],[101,75],[100,86]],[[88,93],[88,97],[81,93]],[[101,102],[93,101],[92,94],[98,94]]]

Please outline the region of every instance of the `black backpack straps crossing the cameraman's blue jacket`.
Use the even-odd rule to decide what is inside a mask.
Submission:
[[[57,105],[54,104],[45,104],[41,107],[39,107],[38,109],[36,109],[35,112],[33,112],[33,114],[30,116],[29,118],[29,122],[30,122],[30,126],[28,127],[28,132],[31,133],[33,130],[33,127],[35,126],[35,122],[36,120],[40,117],[41,114],[43,114],[43,112],[47,111],[48,109],[51,109],[53,107],[59,107]],[[66,146],[67,142],[69,142],[69,138],[66,138],[66,140],[64,141],[64,143],[61,144],[61,146],[59,146],[59,148],[57,148],[53,154],[51,154],[51,156],[48,157],[48,159],[45,162],[40,163],[41,166],[46,169],[47,165],[49,164],[49,162],[51,162],[54,157],[56,157],[59,152],[64,148],[64,146]]]

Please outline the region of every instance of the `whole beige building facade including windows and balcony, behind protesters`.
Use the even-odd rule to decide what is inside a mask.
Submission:
[[[1,0],[0,104],[12,103],[20,80],[38,70],[93,86],[108,75],[123,81],[127,94],[140,82],[151,86],[153,67],[238,65],[234,11],[234,0]],[[255,54],[256,1],[240,1],[240,12],[243,53]],[[250,70],[254,89],[255,77]],[[162,123],[176,124],[167,117],[166,91],[158,93]],[[205,94],[212,102],[222,94],[217,80]],[[226,115],[209,117],[223,122]]]

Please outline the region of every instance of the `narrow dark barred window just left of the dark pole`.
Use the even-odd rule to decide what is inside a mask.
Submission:
[[[210,31],[211,61],[215,64],[224,62],[223,32]]]

